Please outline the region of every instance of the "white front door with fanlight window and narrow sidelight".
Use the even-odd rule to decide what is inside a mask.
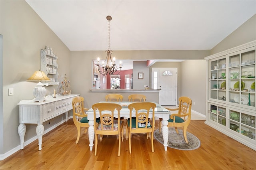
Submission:
[[[176,105],[177,68],[152,68],[152,87],[159,91],[159,104]]]

